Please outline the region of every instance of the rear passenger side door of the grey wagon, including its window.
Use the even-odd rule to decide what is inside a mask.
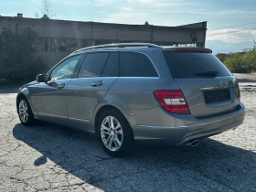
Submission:
[[[69,122],[93,132],[92,113],[112,83],[118,79],[119,63],[116,52],[88,53],[81,63],[78,77],[67,88]]]

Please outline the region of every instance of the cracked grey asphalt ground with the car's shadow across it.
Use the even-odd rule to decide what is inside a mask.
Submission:
[[[88,133],[21,125],[14,92],[0,88],[0,191],[256,191],[256,91],[241,91],[247,113],[236,130],[123,159]]]

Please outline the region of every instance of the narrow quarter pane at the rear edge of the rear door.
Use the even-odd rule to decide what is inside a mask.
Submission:
[[[112,53],[106,62],[106,65],[101,74],[102,77],[118,77],[118,53]]]

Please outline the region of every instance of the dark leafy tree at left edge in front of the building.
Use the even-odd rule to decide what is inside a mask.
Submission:
[[[47,69],[46,63],[37,57],[33,44],[37,32],[26,27],[21,34],[3,27],[0,43],[0,78],[7,80],[34,79]]]

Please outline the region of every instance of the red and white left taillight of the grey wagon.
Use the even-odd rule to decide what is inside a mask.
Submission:
[[[180,90],[154,91],[155,99],[167,112],[188,114],[187,101]]]

